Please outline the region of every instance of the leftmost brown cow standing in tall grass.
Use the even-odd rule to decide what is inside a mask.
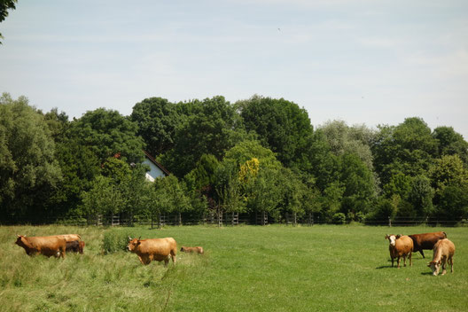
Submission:
[[[24,248],[28,255],[41,253],[48,257],[61,256],[65,259],[66,240],[57,236],[26,237],[18,235],[16,245]]]

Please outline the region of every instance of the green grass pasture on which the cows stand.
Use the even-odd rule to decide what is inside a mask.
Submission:
[[[177,254],[168,269],[133,253],[102,252],[106,231],[173,237],[206,254]],[[391,268],[386,233],[445,230],[455,273],[433,277],[426,259]],[[29,257],[16,234],[78,233],[85,254]],[[467,311],[468,228],[238,226],[0,227],[1,311]]]

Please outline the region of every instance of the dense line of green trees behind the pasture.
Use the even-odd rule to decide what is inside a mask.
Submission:
[[[144,152],[171,175],[146,181]],[[0,98],[0,222],[266,213],[276,222],[468,217],[468,143],[452,127],[314,128],[284,98],[146,98],[69,120]]]

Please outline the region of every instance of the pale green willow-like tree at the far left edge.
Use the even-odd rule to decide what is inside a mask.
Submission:
[[[41,220],[51,216],[43,203],[60,181],[55,144],[43,114],[27,98],[0,98],[0,220]]]

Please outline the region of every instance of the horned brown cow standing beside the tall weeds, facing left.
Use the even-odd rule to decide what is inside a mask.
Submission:
[[[127,248],[130,252],[136,253],[142,264],[150,264],[152,260],[164,261],[164,266],[167,267],[170,258],[175,264],[177,243],[174,238],[140,239],[129,237]]]

